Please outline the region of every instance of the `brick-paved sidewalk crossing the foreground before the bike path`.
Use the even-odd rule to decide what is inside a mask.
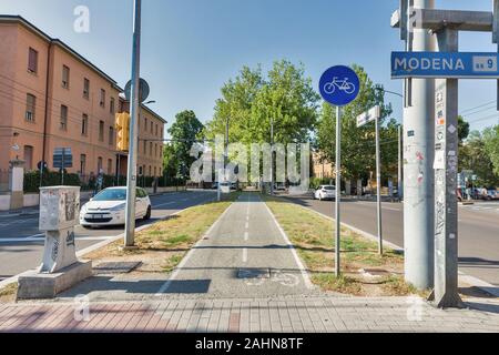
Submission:
[[[498,305],[475,306],[483,311],[441,311],[387,297],[177,300],[90,303],[88,308],[81,302],[18,304],[0,305],[0,333],[499,332]]]

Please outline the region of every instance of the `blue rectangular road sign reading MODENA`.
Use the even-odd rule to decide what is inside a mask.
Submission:
[[[499,53],[393,52],[391,78],[499,79]]]

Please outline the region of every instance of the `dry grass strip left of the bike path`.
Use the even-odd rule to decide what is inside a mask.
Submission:
[[[123,242],[118,241],[85,255],[85,258],[92,260],[94,264],[141,262],[134,273],[171,272],[238,195],[238,193],[231,193],[221,202],[197,205],[165,221],[154,223],[149,229],[136,233],[136,250],[120,250]]]

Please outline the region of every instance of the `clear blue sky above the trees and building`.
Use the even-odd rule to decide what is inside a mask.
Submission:
[[[90,9],[90,33],[73,31],[80,4]],[[151,108],[169,122],[184,109],[210,120],[221,87],[243,65],[269,69],[283,58],[303,62],[314,85],[326,68],[355,62],[400,92],[401,82],[389,78],[389,54],[403,49],[389,27],[397,7],[398,0],[143,0],[142,77],[157,101]],[[490,11],[491,1],[437,0],[437,7]],[[0,13],[23,16],[122,87],[130,78],[132,0],[1,0]],[[489,33],[465,33],[460,48],[497,50]],[[388,99],[399,119],[400,100]],[[499,122],[491,105],[469,110],[492,100],[495,81],[461,81],[459,106],[472,129]]]

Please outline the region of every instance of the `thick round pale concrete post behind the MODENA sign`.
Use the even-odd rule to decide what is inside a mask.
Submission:
[[[435,1],[414,6],[432,9]],[[435,51],[435,44],[428,31],[414,30],[414,51]],[[435,80],[413,79],[411,105],[404,109],[405,270],[406,281],[419,290],[434,285],[434,92]]]

